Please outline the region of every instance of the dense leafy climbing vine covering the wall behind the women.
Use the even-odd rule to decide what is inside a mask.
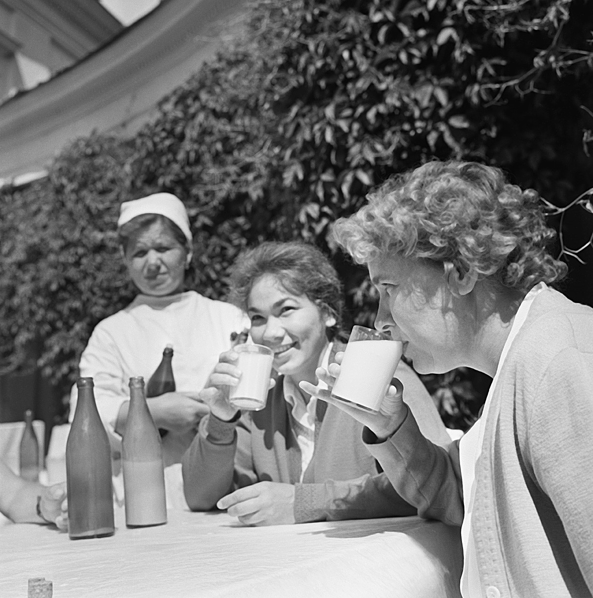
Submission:
[[[3,367],[72,383],[94,325],[133,297],[118,206],[157,190],[188,207],[199,292],[224,298],[244,246],[301,238],[334,257],[348,324],[369,324],[374,290],[329,225],[434,157],[497,164],[560,208],[579,198],[551,223],[558,251],[584,247],[564,292],[592,304],[592,30],[591,0],[258,2],[136,138],[80,139],[47,180],[0,190]],[[460,428],[488,388],[466,369],[424,382]]]

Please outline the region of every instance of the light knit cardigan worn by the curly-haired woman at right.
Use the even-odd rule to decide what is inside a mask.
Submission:
[[[363,440],[418,514],[461,523],[458,443],[434,446],[410,413],[383,443],[368,429]],[[475,484],[484,596],[591,596],[593,309],[553,289],[534,299],[491,398]]]

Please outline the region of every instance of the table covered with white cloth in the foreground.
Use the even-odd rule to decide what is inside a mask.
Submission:
[[[418,517],[244,527],[226,512],[168,511],[166,525],[72,541],[33,524],[0,527],[0,596],[27,579],[54,598],[451,598],[462,566],[458,528]]]

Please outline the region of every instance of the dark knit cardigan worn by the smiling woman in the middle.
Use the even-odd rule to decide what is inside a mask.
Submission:
[[[415,395],[415,412],[425,433],[448,444],[418,377],[403,363],[396,376]],[[282,388],[280,377],[266,407],[244,412],[238,422],[223,422],[212,414],[203,418],[182,460],[189,508],[206,511],[237,488],[273,481],[294,484],[297,523],[415,514],[363,445],[362,425],[323,401],[316,406],[313,457],[299,483],[301,453]]]

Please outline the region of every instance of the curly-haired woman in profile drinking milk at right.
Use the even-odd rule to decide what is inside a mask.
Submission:
[[[432,162],[334,225],[379,291],[375,326],[404,341],[415,370],[493,378],[460,441],[424,438],[401,385],[376,415],[301,385],[366,426],[420,515],[461,525],[464,597],[593,591],[593,309],[551,288],[567,267],[548,252],[538,199],[499,169]],[[331,385],[339,369],[317,376]]]

